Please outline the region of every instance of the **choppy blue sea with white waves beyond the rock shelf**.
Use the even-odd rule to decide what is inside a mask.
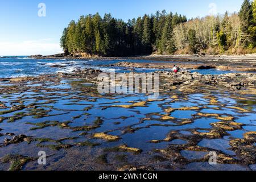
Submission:
[[[79,68],[101,69],[105,72],[115,71],[118,73],[130,72],[127,68],[122,67],[106,67],[104,65],[115,64],[119,61],[127,61],[131,63],[154,63],[150,60],[66,60],[66,59],[30,59],[26,56],[0,58],[0,78],[22,77],[22,76],[38,76],[56,72],[72,73],[73,70]],[[158,62],[161,63],[161,62]],[[168,62],[172,63],[172,62]],[[175,62],[177,64],[177,62]],[[58,67],[56,67],[58,66]],[[170,69],[142,69],[135,68],[134,72],[155,72]],[[224,73],[232,73],[233,71],[218,71],[217,69],[196,70],[203,75],[220,75]]]

